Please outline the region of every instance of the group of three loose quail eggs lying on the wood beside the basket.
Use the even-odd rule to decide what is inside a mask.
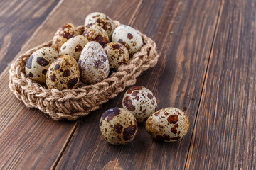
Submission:
[[[186,113],[178,108],[156,111],[156,97],[144,86],[129,88],[123,97],[122,108],[110,108],[100,118],[100,131],[107,142],[125,145],[131,142],[138,123],[146,121],[146,131],[151,137],[164,142],[181,140],[189,128]]]

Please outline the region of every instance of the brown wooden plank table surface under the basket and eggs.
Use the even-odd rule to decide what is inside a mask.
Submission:
[[[256,1],[0,1],[0,169],[256,169]],[[9,90],[16,57],[63,23],[106,13],[156,41],[156,67],[137,85],[190,119],[178,142],[156,142],[139,124],[134,141],[110,145],[98,123],[121,93],[85,118],[55,121]]]

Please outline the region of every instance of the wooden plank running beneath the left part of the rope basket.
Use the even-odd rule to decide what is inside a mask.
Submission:
[[[137,5],[138,1],[135,0],[62,1],[24,43],[19,53],[52,39],[55,31],[64,23],[82,25],[85,16],[92,11],[102,11],[117,19],[122,17],[122,21],[128,23],[138,10]],[[9,67],[6,67],[0,74],[0,169],[53,168],[73,135],[77,122],[51,120],[36,109],[26,108],[9,91],[8,72]]]

